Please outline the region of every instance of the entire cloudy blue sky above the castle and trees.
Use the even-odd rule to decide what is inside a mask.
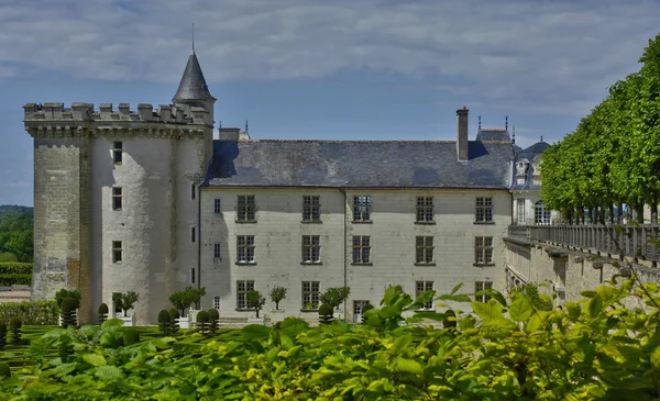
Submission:
[[[195,48],[253,138],[553,143],[660,33],[660,0],[0,0],[0,204],[33,204],[25,103],[169,104]]]

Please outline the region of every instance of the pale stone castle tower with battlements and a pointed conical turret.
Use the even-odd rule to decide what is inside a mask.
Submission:
[[[79,289],[87,323],[113,292],[133,290],[142,324],[191,285],[215,102],[193,52],[170,105],[24,105],[34,138],[33,298]]]

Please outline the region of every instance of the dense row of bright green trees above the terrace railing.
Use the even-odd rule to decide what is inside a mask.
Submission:
[[[626,205],[644,223],[658,221],[660,201],[660,35],[649,40],[641,67],[609,88],[575,131],[543,152],[547,207],[570,222],[614,222]],[[586,211],[586,213],[585,213]]]

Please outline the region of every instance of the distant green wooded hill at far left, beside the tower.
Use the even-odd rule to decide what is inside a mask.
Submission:
[[[33,208],[0,205],[0,261],[32,261],[33,219]]]

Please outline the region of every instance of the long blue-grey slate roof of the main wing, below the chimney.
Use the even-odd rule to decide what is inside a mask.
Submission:
[[[205,186],[329,188],[488,188],[510,183],[510,142],[213,142]]]

